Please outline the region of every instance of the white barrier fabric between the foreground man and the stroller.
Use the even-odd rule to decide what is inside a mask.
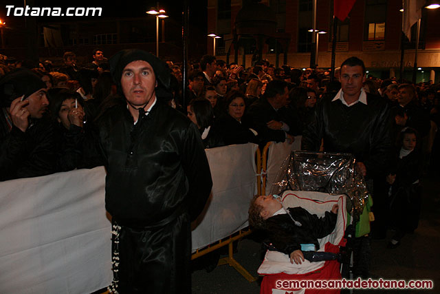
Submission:
[[[256,194],[257,145],[230,145],[206,149],[212,193],[192,231],[192,251],[248,226],[250,200]],[[196,224],[193,224],[196,225]]]

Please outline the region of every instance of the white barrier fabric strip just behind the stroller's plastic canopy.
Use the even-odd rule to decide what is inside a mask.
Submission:
[[[272,183],[275,182],[276,175],[278,175],[278,171],[280,171],[280,167],[281,165],[283,165],[283,162],[287,158],[287,156],[289,156],[292,151],[301,149],[302,137],[303,136],[295,136],[294,143],[292,144],[289,144],[287,142],[272,142],[269,145],[269,151],[267,151],[265,195],[270,194]]]

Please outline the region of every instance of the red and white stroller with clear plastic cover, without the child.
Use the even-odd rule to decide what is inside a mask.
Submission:
[[[319,251],[344,252],[342,264],[336,260],[292,264],[284,253],[267,250],[259,274],[263,275],[261,293],[340,293],[340,289],[282,286],[280,281],[341,280],[350,278],[351,242],[369,233],[370,207],[373,204],[364,178],[355,170],[351,154],[293,151],[287,157],[270,189],[289,207],[300,206],[323,216],[338,203],[335,230],[319,239]]]

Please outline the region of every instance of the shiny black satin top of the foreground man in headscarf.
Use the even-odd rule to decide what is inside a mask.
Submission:
[[[199,131],[188,118],[157,100],[135,125],[126,105],[115,105],[98,127],[113,218],[129,227],[154,226],[176,211],[197,218],[212,180]]]

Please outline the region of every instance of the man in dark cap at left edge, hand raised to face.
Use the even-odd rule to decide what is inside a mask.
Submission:
[[[45,83],[30,70],[14,70],[0,80],[0,103],[0,180],[54,172]]]

